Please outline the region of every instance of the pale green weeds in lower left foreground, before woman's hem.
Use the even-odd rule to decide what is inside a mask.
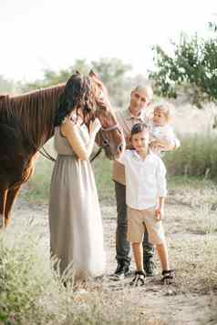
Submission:
[[[1,324],[142,324],[129,289],[110,291],[100,280],[85,293],[73,284],[65,288],[68,273],[60,277],[57,260],[49,259],[41,243],[33,224],[0,235]]]

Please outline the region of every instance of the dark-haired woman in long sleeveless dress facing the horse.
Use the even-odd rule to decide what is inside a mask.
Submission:
[[[71,266],[75,280],[101,275],[105,269],[98,193],[88,160],[100,128],[98,118],[90,121],[92,95],[91,78],[72,76],[55,120],[58,155],[50,187],[50,247],[60,260],[61,274]]]

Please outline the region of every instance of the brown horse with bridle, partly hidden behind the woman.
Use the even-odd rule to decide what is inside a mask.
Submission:
[[[96,76],[93,82],[95,93],[91,95],[96,96],[98,86],[103,85]],[[21,96],[0,96],[0,228],[7,226],[15,197],[32,175],[36,152],[54,135],[58,100],[64,89],[65,84]],[[123,136],[111,107],[99,104],[94,112],[102,125],[97,143],[107,157],[114,158],[122,150]]]

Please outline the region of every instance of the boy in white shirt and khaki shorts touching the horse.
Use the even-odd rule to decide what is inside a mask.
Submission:
[[[126,150],[119,162],[125,166],[126,201],[128,205],[128,235],[136,262],[136,273],[131,285],[144,285],[142,239],[144,228],[148,229],[149,239],[156,245],[160,256],[162,280],[174,278],[170,269],[168,250],[162,228],[166,189],[166,168],[156,154],[149,149],[148,128],[141,123],[131,129],[130,143],[133,150]]]

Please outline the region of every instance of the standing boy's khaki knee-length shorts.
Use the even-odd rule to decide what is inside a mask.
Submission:
[[[129,242],[142,242],[145,227],[148,231],[151,244],[165,243],[162,222],[155,218],[155,208],[138,210],[128,207],[128,234]]]

